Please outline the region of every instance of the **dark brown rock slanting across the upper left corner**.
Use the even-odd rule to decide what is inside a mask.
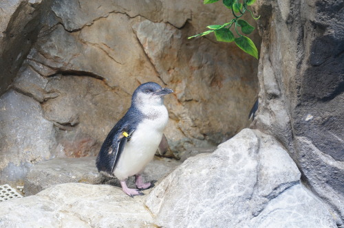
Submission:
[[[41,0],[0,2],[0,95],[17,75],[39,34]]]

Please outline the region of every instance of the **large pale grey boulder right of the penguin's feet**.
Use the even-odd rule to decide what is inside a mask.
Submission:
[[[187,159],[145,204],[162,227],[336,227],[300,177],[279,142],[244,129]]]

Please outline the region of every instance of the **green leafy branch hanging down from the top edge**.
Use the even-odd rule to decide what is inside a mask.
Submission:
[[[215,3],[219,0],[204,0],[204,4]],[[224,23],[223,25],[208,25],[207,28],[209,30],[202,32],[201,34],[197,34],[195,36],[190,36],[189,38],[194,38],[197,36],[206,36],[214,32],[216,40],[222,42],[235,42],[235,44],[242,49],[247,54],[258,59],[258,50],[255,46],[255,43],[251,41],[250,38],[240,34],[238,28],[241,28],[241,32],[243,34],[250,34],[255,30],[255,27],[250,25],[247,21],[240,19],[246,12],[250,12],[253,19],[257,20],[260,16],[255,18],[251,10],[248,10],[248,5],[252,5],[255,3],[256,0],[223,0],[224,5],[226,8],[232,11],[233,16],[235,17],[228,23]],[[230,31],[230,28],[233,27],[235,34],[239,37],[235,37],[233,32]]]

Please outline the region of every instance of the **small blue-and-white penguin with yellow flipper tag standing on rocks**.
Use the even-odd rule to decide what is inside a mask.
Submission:
[[[141,84],[131,97],[131,106],[109,132],[96,159],[98,171],[120,180],[122,191],[133,197],[143,195],[154,183],[144,183],[140,172],[154,157],[169,120],[164,95],[173,93],[155,82]],[[127,187],[135,175],[137,189]]]

